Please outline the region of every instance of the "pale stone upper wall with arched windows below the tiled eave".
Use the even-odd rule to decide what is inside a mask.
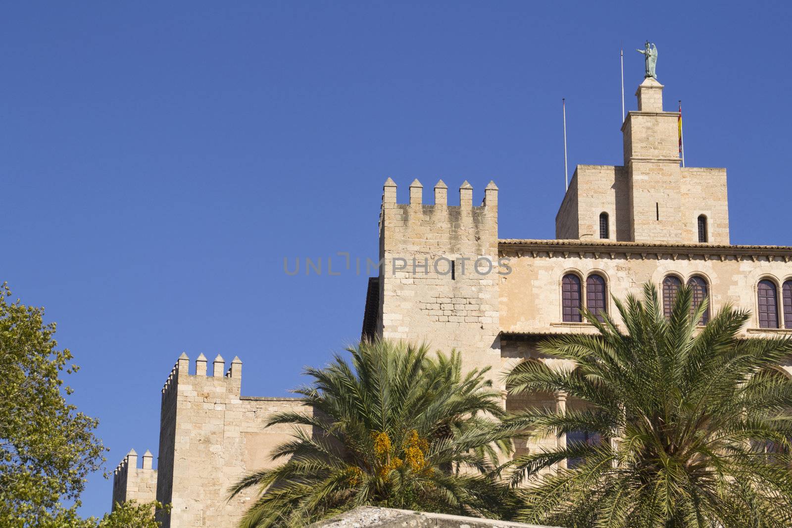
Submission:
[[[727,303],[751,310],[744,335],[786,333],[759,329],[756,286],[760,279],[771,279],[780,300],[782,283],[792,279],[789,248],[501,241],[501,252],[512,259],[512,273],[500,279],[504,332],[587,331],[589,325],[585,323],[562,322],[561,280],[565,273],[575,273],[584,285],[590,273],[599,273],[607,281],[608,293],[617,298],[641,294],[646,282],[659,289],[668,274],[683,282],[700,275],[710,290],[711,310],[717,311]],[[614,310],[609,298],[608,311]]]

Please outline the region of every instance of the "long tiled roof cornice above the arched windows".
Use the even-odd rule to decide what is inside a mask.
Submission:
[[[594,258],[672,260],[792,260],[792,247],[787,245],[718,245],[718,244],[668,244],[656,242],[614,242],[584,240],[524,240],[501,238],[498,240],[501,256],[583,257],[592,253]],[[622,257],[623,255],[623,257]]]

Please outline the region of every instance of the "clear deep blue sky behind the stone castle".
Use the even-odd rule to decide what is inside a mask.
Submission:
[[[621,45],[627,109],[653,40],[687,165],[728,168],[732,242],[792,245],[790,8],[550,3],[6,2],[0,280],[58,322],[109,469],[156,454],[181,351],[277,396],[356,340],[366,278],[283,258],[375,258],[386,177],[495,180],[501,237],[554,237],[561,98],[570,166],[619,165]]]

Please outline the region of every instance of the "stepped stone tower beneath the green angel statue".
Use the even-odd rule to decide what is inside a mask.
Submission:
[[[578,165],[556,216],[556,237],[729,244],[725,169],[680,167],[679,112],[645,78],[622,125],[624,165]]]

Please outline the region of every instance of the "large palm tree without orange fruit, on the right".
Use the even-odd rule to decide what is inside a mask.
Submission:
[[[681,288],[664,317],[657,290],[646,285],[643,300],[615,300],[626,332],[584,311],[597,334],[540,345],[574,370],[527,362],[508,374],[513,392],[559,391],[583,404],[521,412],[511,427],[559,437],[589,431],[595,439],[516,458],[512,484],[527,481],[518,519],[792,526],[792,382],[773,370],[792,342],[738,338],[748,313],[731,306],[698,329],[706,300],[696,307],[691,298]]]

